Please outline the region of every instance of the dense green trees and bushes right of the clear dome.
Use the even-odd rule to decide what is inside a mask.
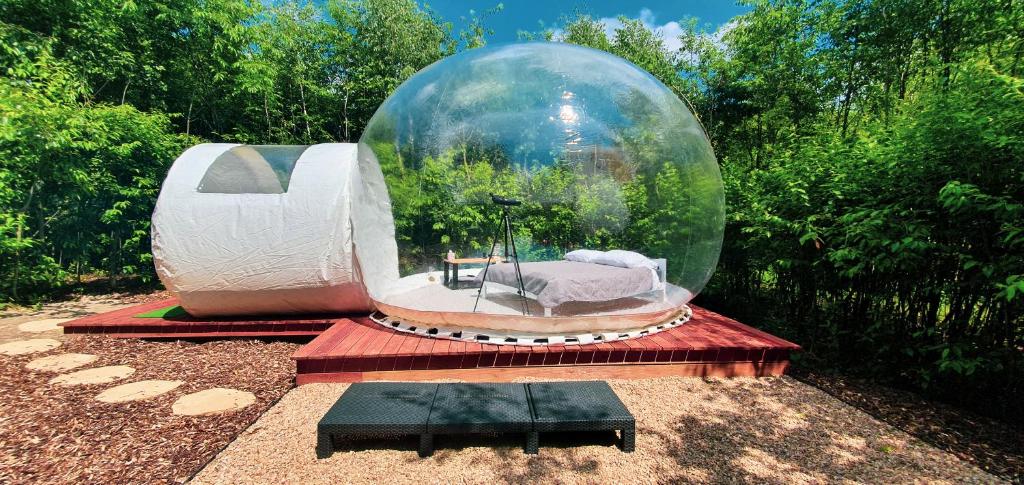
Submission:
[[[691,31],[729,203],[705,301],[800,342],[804,365],[1019,417],[1022,21],[989,2],[755,2],[721,44]]]

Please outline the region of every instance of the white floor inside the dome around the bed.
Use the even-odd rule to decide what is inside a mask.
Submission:
[[[473,272],[464,274],[470,277]],[[476,303],[476,288],[452,290],[441,283],[438,271],[406,276],[398,281],[395,290],[384,303],[396,307],[420,311],[472,312]],[[463,279],[465,280],[465,279]],[[567,315],[629,315],[631,313],[651,313],[677,308],[689,301],[690,294],[685,289],[669,284],[667,301],[660,300],[659,293],[638,295],[607,302],[573,302],[559,305],[552,310],[553,316]],[[526,298],[528,312],[532,316],[543,316],[544,308],[532,298]],[[515,290],[498,283],[487,283],[485,297],[480,298],[476,307],[479,313],[494,315],[519,315],[522,313],[522,299]]]

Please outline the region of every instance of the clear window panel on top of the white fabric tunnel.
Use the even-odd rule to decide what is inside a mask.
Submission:
[[[217,157],[200,180],[206,193],[285,193],[308,145],[242,145]]]

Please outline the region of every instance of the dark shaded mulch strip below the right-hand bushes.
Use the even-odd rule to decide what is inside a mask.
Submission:
[[[1019,427],[865,380],[806,371],[796,377],[992,475],[1024,483],[1024,430]]]

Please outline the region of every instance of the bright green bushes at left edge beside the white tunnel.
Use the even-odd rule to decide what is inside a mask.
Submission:
[[[0,85],[0,294],[39,295],[72,268],[152,275],[152,201],[184,138],[163,115],[69,100],[79,84],[49,45],[9,39],[28,68]]]

